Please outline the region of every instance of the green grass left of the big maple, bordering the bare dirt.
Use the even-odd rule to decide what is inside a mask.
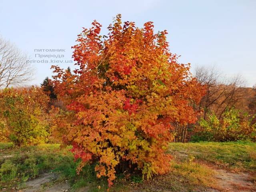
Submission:
[[[79,175],[71,147],[60,148],[59,144],[40,144],[22,148],[12,148],[11,143],[0,143],[0,190],[24,186],[24,183],[45,172],[58,174],[58,182],[68,180],[72,190],[90,186],[90,191],[106,191],[106,179],[98,180],[94,165],[87,165]],[[5,149],[4,149],[5,148]],[[101,189],[97,187],[101,185]]]

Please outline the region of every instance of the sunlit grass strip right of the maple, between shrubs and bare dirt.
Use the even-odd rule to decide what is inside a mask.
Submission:
[[[256,172],[256,143],[253,142],[198,142],[171,143],[170,153],[182,160],[194,156],[236,171]]]

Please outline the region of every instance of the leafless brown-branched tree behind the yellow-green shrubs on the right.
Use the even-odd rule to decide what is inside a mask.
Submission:
[[[197,67],[195,75],[206,86],[206,94],[199,104],[199,108],[204,110],[204,119],[209,112],[214,112],[221,119],[225,110],[232,108],[246,96],[241,76],[227,79],[217,68],[204,66]]]

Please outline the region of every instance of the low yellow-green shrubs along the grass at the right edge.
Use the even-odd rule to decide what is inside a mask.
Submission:
[[[206,119],[199,120],[192,141],[255,141],[256,124],[252,124],[252,119],[235,108],[226,110],[222,120],[214,114],[208,114]]]

